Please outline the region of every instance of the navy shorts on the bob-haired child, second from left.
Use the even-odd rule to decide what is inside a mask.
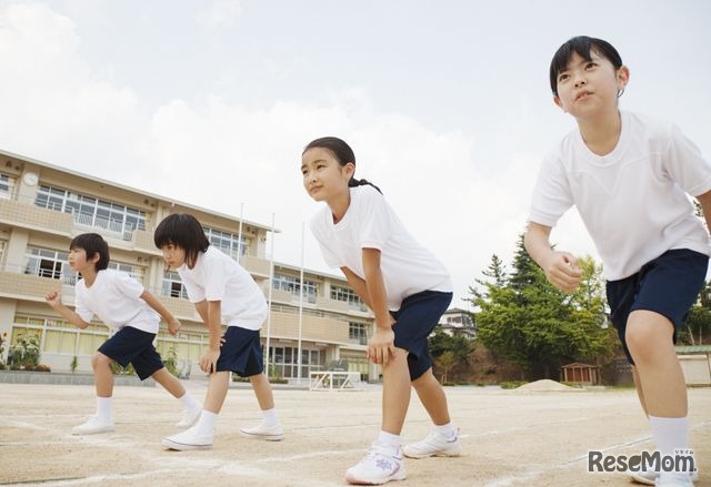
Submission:
[[[218,372],[230,371],[242,377],[251,377],[264,371],[259,329],[228,326],[224,344],[220,348]]]

